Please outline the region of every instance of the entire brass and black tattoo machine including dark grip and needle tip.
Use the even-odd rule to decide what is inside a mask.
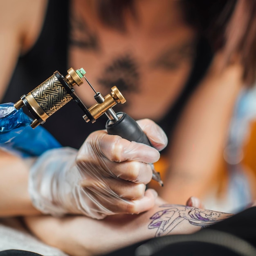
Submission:
[[[103,97],[100,92],[94,90],[94,99],[97,103],[89,109],[86,108],[73,88],[75,85],[80,86],[83,84],[82,78],[84,78],[92,90],[94,90],[85,77],[85,70],[83,68],[78,70],[70,68],[67,70],[66,76],[63,76],[58,71],[54,72],[52,76],[38,85],[34,90],[28,94],[22,95],[20,100],[14,104],[14,107],[18,110],[26,106],[34,117],[34,121],[32,121],[30,126],[36,128],[39,124],[44,124],[48,117],[73,99],[83,110],[83,119],[86,122],[91,121],[94,123],[96,119],[105,113],[109,119],[106,123],[108,134],[119,135],[129,141],[137,141],[152,146],[146,134],[141,130],[134,119],[124,112],[115,113],[114,110],[112,110],[112,107],[117,103],[126,102],[126,99],[116,86],[112,87],[110,94],[107,94],[105,97]],[[160,174],[155,171],[153,164],[150,165],[153,171],[152,179],[163,186]]]

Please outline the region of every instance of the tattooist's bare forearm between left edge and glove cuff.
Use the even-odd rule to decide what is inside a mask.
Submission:
[[[3,150],[0,150],[0,163],[0,216],[39,214],[31,204],[27,189],[28,165]]]

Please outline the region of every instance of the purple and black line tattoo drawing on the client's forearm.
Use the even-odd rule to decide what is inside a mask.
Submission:
[[[233,215],[194,207],[184,207],[184,210],[181,210],[176,208],[179,207],[179,205],[165,204],[161,207],[172,208],[158,211],[150,217],[152,221],[148,225],[148,228],[157,228],[156,237],[168,235],[183,220],[188,220],[190,224],[195,226],[207,227]]]

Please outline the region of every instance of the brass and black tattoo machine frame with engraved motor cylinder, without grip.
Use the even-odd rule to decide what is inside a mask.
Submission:
[[[97,118],[106,113],[111,115],[111,108],[117,103],[125,103],[126,99],[116,86],[112,87],[112,92],[103,97],[99,93],[99,97],[103,97],[100,103],[94,104],[89,109],[82,103],[74,91],[75,85],[82,85],[82,75],[85,74],[83,68],[74,70],[70,68],[67,70],[67,75],[63,76],[58,71],[54,72],[43,83],[38,85],[34,90],[28,94],[22,95],[20,100],[14,104],[16,109],[26,106],[34,117],[31,123],[32,128],[36,128],[39,124],[44,124],[46,119],[53,115],[57,110],[62,108],[72,99],[83,110],[83,118],[86,122],[94,123]],[[110,113],[109,113],[110,112]]]

